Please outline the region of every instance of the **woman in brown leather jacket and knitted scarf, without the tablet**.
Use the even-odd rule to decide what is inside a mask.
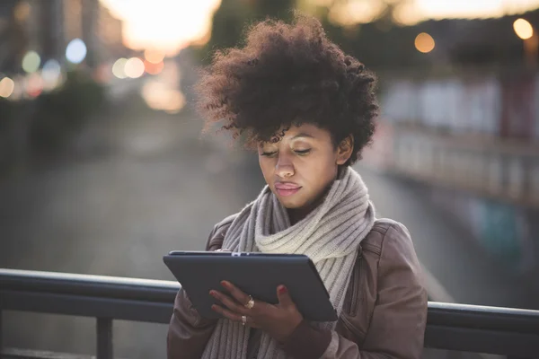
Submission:
[[[340,319],[307,322],[282,285],[272,305],[223,282],[208,293],[223,319],[207,320],[180,290],[169,358],[420,357],[427,296],[410,234],[376,220],[349,167],[374,133],[374,83],[312,18],[258,23],[243,48],[216,54],[199,109],[257,149],[268,185],[216,224],[206,250],[309,256]]]

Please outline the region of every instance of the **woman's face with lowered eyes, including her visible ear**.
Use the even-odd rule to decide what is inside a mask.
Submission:
[[[349,143],[349,139],[343,141]],[[335,147],[331,133],[315,125],[290,127],[275,144],[259,144],[262,174],[287,209],[314,206],[348,161],[353,145]]]

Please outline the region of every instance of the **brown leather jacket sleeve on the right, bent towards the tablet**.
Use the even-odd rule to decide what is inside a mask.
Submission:
[[[427,323],[427,293],[420,273],[410,233],[402,224],[393,223],[384,235],[378,297],[361,348],[334,330],[321,332],[304,325],[285,344],[287,352],[309,359],[419,359]],[[307,353],[299,343],[324,344],[317,350],[311,344]]]

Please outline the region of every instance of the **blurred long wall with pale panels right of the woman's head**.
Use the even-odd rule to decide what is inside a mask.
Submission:
[[[502,266],[539,276],[537,70],[381,77],[383,114],[367,162],[419,184]]]

